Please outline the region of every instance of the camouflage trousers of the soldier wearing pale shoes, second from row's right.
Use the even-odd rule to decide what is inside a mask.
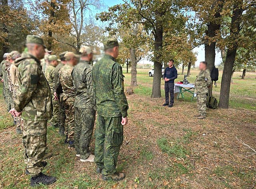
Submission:
[[[94,109],[75,107],[75,147],[76,154],[81,159],[87,159],[90,155],[90,142],[95,123]]]

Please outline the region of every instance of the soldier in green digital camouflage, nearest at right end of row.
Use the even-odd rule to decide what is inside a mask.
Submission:
[[[123,125],[126,125],[128,103],[124,94],[122,67],[116,62],[118,41],[104,42],[104,57],[92,69],[96,95],[97,123],[95,131],[96,172],[104,180],[122,180],[124,173],[116,172],[116,163],[123,143]]]

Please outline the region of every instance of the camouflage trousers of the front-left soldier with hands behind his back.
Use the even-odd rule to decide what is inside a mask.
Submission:
[[[24,120],[22,142],[25,147],[24,162],[30,176],[34,177],[44,169],[42,160],[46,150],[46,121]]]

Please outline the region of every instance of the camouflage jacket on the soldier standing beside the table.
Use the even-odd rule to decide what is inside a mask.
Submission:
[[[195,93],[206,94],[208,93],[208,87],[212,84],[212,79],[209,70],[202,70],[199,72],[195,81]]]

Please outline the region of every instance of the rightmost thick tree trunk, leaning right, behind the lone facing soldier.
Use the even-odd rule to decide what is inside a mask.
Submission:
[[[232,18],[231,18],[231,25],[230,25],[230,36],[233,41],[232,48],[229,48],[227,51],[227,56],[224,64],[222,80],[221,80],[221,88],[220,88],[220,101],[218,107],[228,109],[228,102],[229,102],[229,93],[230,93],[230,82],[232,76],[232,70],[234,67],[234,62],[236,58],[236,51],[238,48],[237,38],[239,37],[240,33],[240,17],[242,16],[242,4],[243,1],[237,1],[234,4]]]

